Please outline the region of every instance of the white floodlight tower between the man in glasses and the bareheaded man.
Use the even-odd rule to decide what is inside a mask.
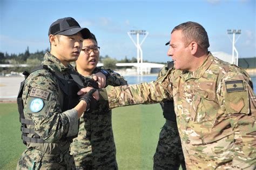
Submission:
[[[138,63],[137,74],[143,74],[142,67],[140,66],[143,63],[142,44],[143,44],[144,40],[146,39],[147,35],[149,35],[149,32],[147,32],[145,30],[131,30],[131,31],[127,32],[127,34],[131,38],[133,44],[137,48],[137,63]],[[137,37],[136,42],[132,39],[132,35],[136,35],[136,37]],[[139,43],[139,36],[144,36],[144,38],[142,39],[142,42],[140,42],[140,43]]]

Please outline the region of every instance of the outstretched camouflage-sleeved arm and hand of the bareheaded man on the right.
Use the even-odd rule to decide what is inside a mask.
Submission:
[[[153,104],[163,99],[172,97],[172,89],[169,86],[169,78],[164,82],[151,81],[136,85],[107,86],[93,93],[93,97],[100,101],[107,101],[110,108],[136,105]],[[86,87],[78,92],[78,95],[89,92],[91,87]]]

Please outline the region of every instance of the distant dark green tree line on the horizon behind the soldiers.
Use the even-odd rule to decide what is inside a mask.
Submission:
[[[33,67],[41,64],[44,54],[46,51],[50,51],[49,49],[42,50],[42,51],[36,51],[35,53],[29,52],[29,47],[25,50],[24,53],[19,53],[18,55],[15,53],[9,54],[8,52],[0,52],[0,64],[14,64],[17,65],[15,67],[11,68],[5,68],[3,69],[0,67],[0,71],[5,71],[6,73],[10,71],[15,72],[22,72],[24,70],[31,70]],[[105,69],[116,69],[117,63],[137,63],[137,58],[132,57],[131,59],[128,59],[126,56],[124,59],[117,60],[115,58],[112,58],[108,55],[105,57],[99,56],[99,62],[103,63]],[[147,60],[143,60],[143,62],[148,62]],[[28,64],[28,67],[18,67],[18,64]],[[164,64],[164,63],[161,63]],[[125,67],[128,68],[129,66]]]

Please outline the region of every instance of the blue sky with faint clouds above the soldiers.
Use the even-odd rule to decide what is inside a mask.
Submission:
[[[0,52],[23,53],[50,47],[48,30],[59,18],[73,17],[96,35],[101,56],[118,60],[137,57],[130,30],[149,32],[142,44],[143,59],[167,62],[172,29],[187,21],[198,22],[208,33],[211,52],[232,55],[235,35],[239,57],[256,56],[256,4],[254,0],[0,0]],[[132,36],[134,40],[136,36]],[[143,36],[139,37],[141,41]]]

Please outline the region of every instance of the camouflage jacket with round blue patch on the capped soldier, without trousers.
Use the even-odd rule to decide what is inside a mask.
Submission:
[[[51,71],[63,74],[70,79],[71,65],[64,66],[47,52],[42,65],[48,65]],[[35,148],[48,154],[59,154],[69,150],[70,140],[66,137],[78,133],[78,116],[75,109],[62,111],[63,92],[59,89],[57,78],[45,69],[32,72],[25,81],[22,94],[25,119],[33,121],[35,126],[28,128],[46,141],[44,144],[28,142],[28,148]],[[32,137],[33,134],[29,134]]]

